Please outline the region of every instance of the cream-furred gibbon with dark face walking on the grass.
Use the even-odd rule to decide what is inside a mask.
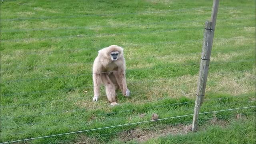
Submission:
[[[111,105],[116,105],[116,90],[120,89],[124,96],[130,96],[125,77],[124,50],[120,46],[111,45],[98,51],[93,64],[94,97],[100,96],[100,85],[104,84],[106,96]]]

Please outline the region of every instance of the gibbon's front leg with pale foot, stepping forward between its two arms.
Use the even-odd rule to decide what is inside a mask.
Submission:
[[[116,105],[116,91],[115,86],[111,82],[110,78],[108,77],[107,73],[102,74],[102,82],[106,87],[106,95],[108,98],[108,101],[112,106]]]

